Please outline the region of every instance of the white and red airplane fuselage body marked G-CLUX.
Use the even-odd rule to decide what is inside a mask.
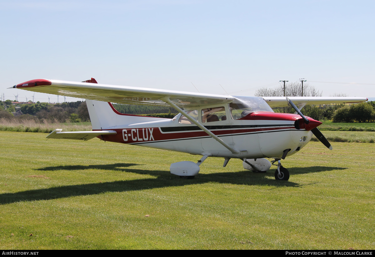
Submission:
[[[199,119],[202,121],[201,117]],[[292,155],[312,137],[310,131],[296,128],[296,120],[300,119],[298,114],[252,112],[239,119],[227,115],[225,120],[203,123],[225,143],[239,150],[240,155],[234,155],[195,124],[183,123],[180,114],[173,119],[111,127],[108,129],[117,134],[99,138],[189,154],[209,153],[213,157],[281,158],[285,149],[290,149],[287,156]]]

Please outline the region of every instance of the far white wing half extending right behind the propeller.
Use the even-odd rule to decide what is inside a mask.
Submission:
[[[285,97],[263,97],[264,100],[272,108],[288,106],[289,103]],[[366,102],[368,99],[365,97],[289,97],[292,102],[297,106],[305,105],[326,105],[330,103],[360,103]]]

